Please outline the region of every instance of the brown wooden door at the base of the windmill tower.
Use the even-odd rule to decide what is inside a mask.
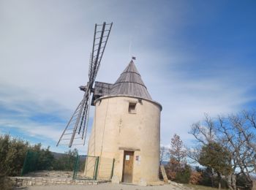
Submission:
[[[132,183],[133,151],[124,151],[122,182]]]

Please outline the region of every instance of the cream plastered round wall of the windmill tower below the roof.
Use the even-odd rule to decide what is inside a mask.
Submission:
[[[135,114],[128,113],[129,102],[137,102]],[[115,158],[113,175],[121,180],[124,150],[119,149],[139,149],[134,155],[133,183],[142,179],[147,183],[159,180],[160,112],[158,104],[144,99],[141,102],[127,96],[100,99],[96,103],[89,153],[94,153],[95,139],[95,155]],[[140,156],[140,161],[135,160],[136,156]]]

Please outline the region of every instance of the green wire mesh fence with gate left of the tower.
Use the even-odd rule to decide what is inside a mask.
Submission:
[[[115,160],[99,156],[80,156],[69,152],[55,158],[28,151],[21,176],[72,178],[78,180],[110,180]]]

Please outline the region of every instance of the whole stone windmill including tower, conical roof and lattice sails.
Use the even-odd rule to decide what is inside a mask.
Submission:
[[[94,123],[85,175],[90,177],[100,173],[99,178],[105,178],[104,174],[111,171],[111,176],[118,182],[154,183],[159,180],[161,104],[151,99],[133,60],[116,83],[94,82],[112,25],[95,25],[89,82],[86,86],[80,86],[80,90],[84,91],[83,99],[57,145],[68,145],[69,148],[85,145],[89,107],[93,105]],[[94,164],[95,156],[99,165]],[[109,161],[115,161],[111,164],[112,168],[108,167]],[[91,167],[97,168],[97,172],[89,170]]]

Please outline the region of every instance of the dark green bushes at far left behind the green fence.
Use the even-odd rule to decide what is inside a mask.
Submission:
[[[68,151],[58,159],[54,158],[49,148],[42,148],[39,143],[30,145],[29,142],[11,137],[10,134],[0,135],[0,176],[19,176],[28,151],[33,153],[35,170],[68,170],[72,171],[78,151]],[[6,180],[4,177],[1,180]],[[1,189],[1,188],[0,188]]]

